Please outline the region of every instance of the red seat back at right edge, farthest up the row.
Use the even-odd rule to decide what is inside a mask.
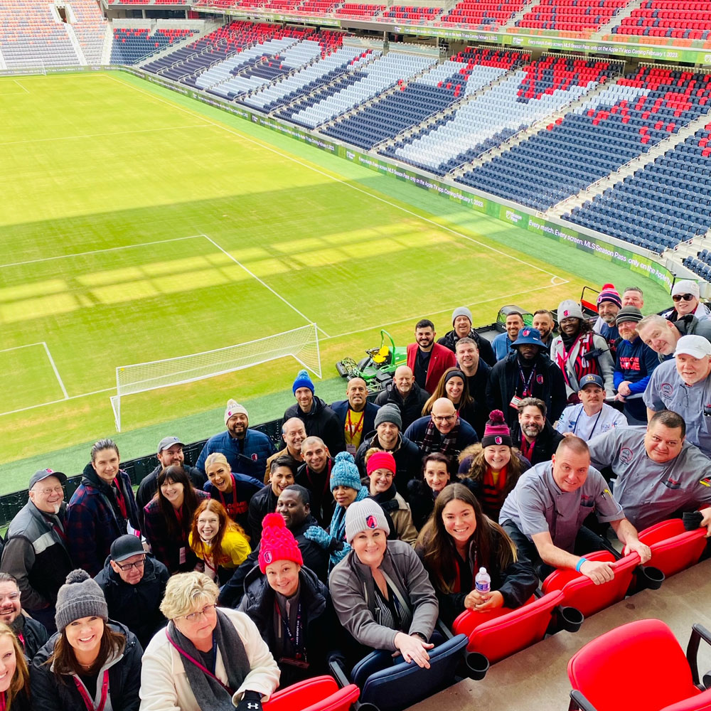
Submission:
[[[641,531],[639,540],[652,552],[648,565],[669,577],[698,562],[706,547],[705,535],[705,528],[688,531],[680,518],[673,518]]]

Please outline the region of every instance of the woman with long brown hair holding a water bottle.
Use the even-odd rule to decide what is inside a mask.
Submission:
[[[518,607],[538,584],[530,562],[519,560],[513,541],[482,513],[476,496],[463,484],[449,484],[439,493],[415,551],[429,573],[445,624],[465,609]],[[474,589],[482,567],[491,576],[489,592]]]

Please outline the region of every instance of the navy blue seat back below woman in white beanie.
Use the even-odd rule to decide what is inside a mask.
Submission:
[[[454,672],[466,648],[458,634],[429,652],[429,669],[400,662],[371,674],[360,693],[360,702],[380,711],[402,711],[441,691],[454,681]]]

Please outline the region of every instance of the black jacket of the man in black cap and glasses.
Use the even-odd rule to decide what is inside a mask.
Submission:
[[[111,556],[95,577],[104,591],[109,617],[127,626],[141,646],[146,647],[156,631],[167,624],[159,605],[166,592],[168,569],[159,560],[146,555],[143,577],[137,584],[129,585],[114,572],[110,561]]]

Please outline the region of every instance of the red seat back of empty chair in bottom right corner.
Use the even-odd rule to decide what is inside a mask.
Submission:
[[[660,710],[697,695],[686,656],[661,620],[629,622],[588,642],[568,678],[597,711]]]

